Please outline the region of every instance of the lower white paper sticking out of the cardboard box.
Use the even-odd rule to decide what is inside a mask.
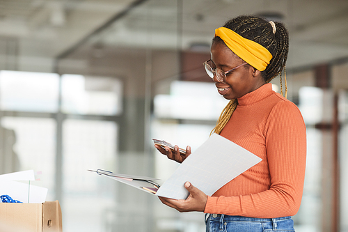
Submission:
[[[30,193],[29,193],[30,191]],[[21,183],[13,180],[0,181],[0,196],[8,195],[12,199],[23,203],[43,203],[46,201],[48,189],[28,183]],[[28,201],[29,197],[29,201]]]

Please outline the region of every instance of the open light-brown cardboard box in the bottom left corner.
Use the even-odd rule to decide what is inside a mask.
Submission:
[[[0,232],[61,232],[62,212],[58,201],[45,203],[0,203]]]

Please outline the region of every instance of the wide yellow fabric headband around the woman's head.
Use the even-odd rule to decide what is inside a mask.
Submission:
[[[266,69],[272,54],[262,45],[248,40],[226,27],[219,27],[215,30],[215,36],[219,36],[232,52],[246,61],[248,64],[263,71]]]

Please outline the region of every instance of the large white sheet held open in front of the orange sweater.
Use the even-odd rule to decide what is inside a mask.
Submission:
[[[212,196],[223,185],[261,160],[221,135],[212,134],[159,187],[156,195],[187,199],[189,192],[184,188],[184,183],[189,181],[205,194]]]

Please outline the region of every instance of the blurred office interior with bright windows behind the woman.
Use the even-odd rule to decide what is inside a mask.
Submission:
[[[60,201],[64,232],[205,231],[203,213],[87,169],[171,176],[151,139],[195,150],[209,137],[227,101],[202,63],[242,14],[290,31],[288,98],[308,128],[295,229],[347,232],[345,0],[0,0],[0,174],[42,171],[33,184]]]

